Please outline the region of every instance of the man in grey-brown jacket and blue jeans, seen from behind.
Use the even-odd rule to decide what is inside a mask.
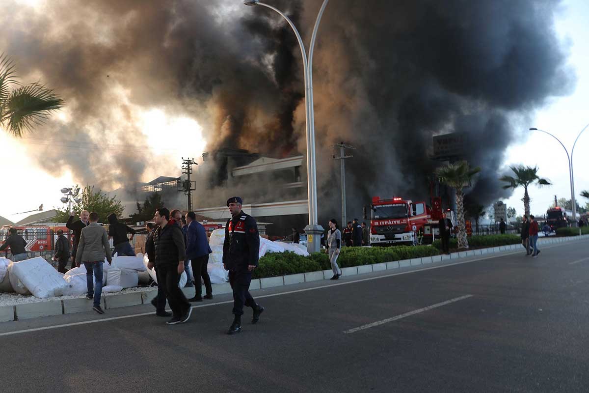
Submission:
[[[98,213],[90,213],[90,225],[82,229],[80,235],[80,244],[75,256],[76,265],[80,266],[84,262],[86,267],[86,281],[88,284],[87,299],[94,298],[92,310],[99,314],[104,314],[100,307],[100,295],[102,293],[102,274],[104,257],[111,264],[110,245],[108,244],[107,231],[98,225]],[[96,285],[92,280],[92,273],[96,278]],[[94,290],[94,291],[92,291]],[[94,292],[94,295],[92,295]]]

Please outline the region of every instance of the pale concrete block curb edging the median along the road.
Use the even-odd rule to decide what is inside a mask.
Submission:
[[[570,236],[570,237],[541,237],[541,245],[552,245],[571,240],[589,239],[589,235]],[[352,267],[343,267],[343,276],[361,275],[365,273],[380,272],[383,270],[393,270],[402,267],[421,266],[426,264],[435,264],[439,262],[447,262],[449,260],[464,259],[465,257],[481,256],[494,253],[512,252],[518,250],[521,245],[508,245],[500,247],[489,247],[478,250],[467,250],[450,255],[435,255],[426,256],[422,258],[404,259],[391,262],[374,263],[372,265],[360,265]],[[292,285],[303,282],[312,282],[319,280],[327,280],[332,278],[332,270],[319,270],[318,272],[298,273],[294,275],[268,277],[262,279],[253,279],[250,285],[250,290],[274,288],[276,286]],[[183,288],[183,292],[194,296],[194,288]],[[204,293],[204,288],[203,288]],[[231,286],[229,283],[214,284],[213,295],[221,295],[223,293],[231,293]],[[151,299],[157,295],[157,289],[148,290],[145,292],[128,292],[120,293],[118,295],[102,295],[102,307],[104,309],[112,309],[118,307],[128,307],[141,304],[149,304]],[[92,300],[85,298],[64,299],[64,300],[50,300],[48,302],[24,303],[15,306],[0,307],[0,322],[15,321],[17,319],[38,318],[40,316],[71,314],[77,312],[87,312],[92,309]]]

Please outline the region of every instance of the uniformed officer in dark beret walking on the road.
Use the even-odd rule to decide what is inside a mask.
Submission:
[[[252,323],[260,319],[264,308],[256,303],[250,295],[252,271],[256,269],[260,252],[260,235],[256,220],[241,211],[240,197],[227,200],[231,218],[225,226],[223,243],[223,267],[229,270],[229,283],[233,289],[233,323],[227,334],[241,332],[241,315],[243,306],[253,308]]]

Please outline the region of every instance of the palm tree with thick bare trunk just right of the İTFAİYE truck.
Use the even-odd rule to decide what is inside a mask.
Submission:
[[[456,226],[458,227],[458,248],[467,249],[468,239],[466,238],[466,228],[464,225],[464,193],[462,189],[468,186],[481,168],[471,168],[466,161],[459,161],[455,164],[448,164],[445,167],[436,169],[436,176],[440,182],[456,190]]]

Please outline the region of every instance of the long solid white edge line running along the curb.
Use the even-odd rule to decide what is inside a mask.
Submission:
[[[542,248],[548,249],[548,248],[558,247],[558,246],[562,246],[562,245],[564,245],[564,244],[558,243],[555,245],[545,246]],[[360,279],[360,280],[339,282],[339,283],[335,283],[335,284],[327,284],[327,285],[322,285],[322,286],[314,286],[313,288],[296,289],[296,290],[289,290],[287,292],[272,293],[270,295],[256,296],[256,299],[272,298],[273,296],[290,295],[291,293],[307,292],[307,290],[330,288],[332,286],[349,285],[349,284],[353,284],[353,283],[357,283],[357,282],[365,282],[365,281],[371,281],[371,280],[378,280],[381,278],[388,278],[388,277],[406,275],[406,274],[410,274],[410,273],[423,272],[425,270],[442,269],[442,267],[462,265],[464,263],[478,262],[479,260],[493,259],[493,258],[498,258],[498,257],[502,257],[502,256],[520,254],[520,253],[521,252],[519,252],[519,251],[508,252],[508,253],[499,253],[498,255],[489,255],[489,256],[482,257],[482,258],[464,260],[462,262],[456,262],[456,263],[444,263],[443,265],[439,265],[439,266],[423,267],[421,269],[409,270],[407,272],[392,273],[392,274],[384,275],[384,276],[376,276],[376,277],[370,277],[370,278],[365,278],[365,279]],[[210,306],[217,306],[217,305],[227,304],[227,303],[233,303],[233,300],[227,300],[225,302],[216,302],[216,303],[208,303],[208,304],[203,304],[203,305],[198,305],[198,306],[192,306],[192,308],[210,307]],[[9,335],[20,334],[20,333],[38,332],[38,331],[43,331],[43,330],[48,330],[48,329],[65,328],[67,326],[87,325],[88,323],[116,321],[117,319],[134,318],[136,316],[146,316],[146,315],[153,315],[153,314],[154,314],[154,312],[152,311],[152,312],[143,312],[140,314],[113,316],[110,318],[92,319],[91,321],[62,323],[61,325],[51,325],[51,326],[43,326],[41,328],[31,328],[31,329],[23,329],[23,330],[19,330],[19,331],[4,332],[4,333],[0,333],[0,336],[9,336]]]

